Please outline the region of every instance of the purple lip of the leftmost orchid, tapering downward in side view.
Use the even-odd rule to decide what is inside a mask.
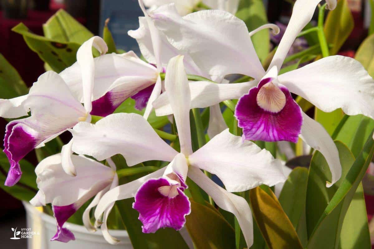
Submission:
[[[14,121],[7,125],[3,151],[9,160],[10,168],[5,186],[13,186],[19,181],[22,175],[19,161],[33,150],[39,141],[40,139],[28,132],[22,123]]]

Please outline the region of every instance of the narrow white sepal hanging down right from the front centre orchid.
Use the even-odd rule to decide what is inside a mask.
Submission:
[[[220,208],[235,215],[243,231],[245,242],[250,248],[253,244],[253,220],[251,208],[249,208],[247,201],[243,197],[229,193],[215,184],[198,168],[190,167],[188,177],[211,196]]]

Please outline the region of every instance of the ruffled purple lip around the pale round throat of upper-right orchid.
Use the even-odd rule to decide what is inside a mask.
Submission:
[[[243,95],[236,105],[235,118],[238,120],[238,126],[243,128],[243,139],[296,143],[301,133],[303,116],[300,106],[292,99],[288,89],[279,85],[285,95],[285,105],[276,113],[264,110],[257,103],[261,87],[271,81],[271,78],[262,80],[257,87]]]

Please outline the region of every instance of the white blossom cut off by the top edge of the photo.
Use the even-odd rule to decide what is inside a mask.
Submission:
[[[163,4],[175,3],[175,7],[181,16],[193,12],[199,3],[204,4],[210,9],[225,10],[235,14],[239,6],[239,0],[144,0],[144,5],[149,10],[156,9]]]

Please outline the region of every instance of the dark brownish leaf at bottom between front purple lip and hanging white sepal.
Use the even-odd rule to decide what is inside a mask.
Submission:
[[[190,201],[191,214],[186,216],[186,227],[196,248],[235,248],[234,229],[223,216],[208,206]]]

